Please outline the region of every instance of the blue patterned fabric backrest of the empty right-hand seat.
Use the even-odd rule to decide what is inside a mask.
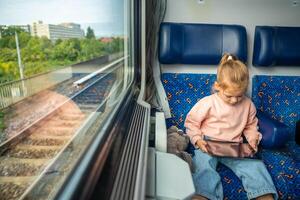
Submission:
[[[254,76],[252,89],[257,109],[295,130],[300,119],[300,76]]]

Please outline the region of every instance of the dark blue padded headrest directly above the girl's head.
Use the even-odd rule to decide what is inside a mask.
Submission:
[[[162,23],[159,61],[163,64],[218,64],[223,53],[247,61],[246,29],[240,25]]]

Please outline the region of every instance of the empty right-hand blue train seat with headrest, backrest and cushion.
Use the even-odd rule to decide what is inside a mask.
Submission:
[[[257,26],[252,64],[255,67],[300,66],[300,27]],[[271,173],[282,199],[300,198],[300,146],[295,143],[300,119],[300,76],[256,75],[252,99],[258,111],[288,127],[285,146],[263,149],[260,156]],[[282,167],[279,167],[278,163]],[[286,188],[278,185],[284,180]],[[277,185],[276,185],[277,184]]]

